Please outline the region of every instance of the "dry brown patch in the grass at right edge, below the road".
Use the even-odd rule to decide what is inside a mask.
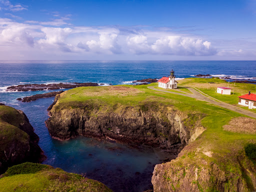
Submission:
[[[224,130],[245,134],[256,134],[256,119],[248,117],[232,118],[228,124],[223,126]]]

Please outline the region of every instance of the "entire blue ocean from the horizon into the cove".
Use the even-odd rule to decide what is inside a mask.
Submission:
[[[154,164],[173,158],[149,146],[134,146],[107,140],[77,137],[52,139],[44,121],[53,97],[20,102],[18,97],[54,90],[8,92],[11,85],[57,82],[97,82],[102,85],[131,84],[144,78],[167,76],[173,69],[178,79],[195,74],[256,81],[256,61],[84,61],[84,60],[2,60],[0,61],[0,102],[21,109],[38,134],[44,164],[99,180],[114,191],[143,191],[151,187]]]

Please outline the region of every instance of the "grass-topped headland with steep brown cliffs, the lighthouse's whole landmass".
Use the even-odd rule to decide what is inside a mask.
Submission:
[[[209,102],[227,102],[211,92],[213,84],[227,86],[221,79],[188,78],[171,91],[157,83],[77,87],[56,95],[46,125],[61,140],[84,135],[180,151],[177,158],[154,167],[154,191],[254,190],[256,166],[245,150],[256,143],[256,126],[237,130],[236,124],[256,121]]]

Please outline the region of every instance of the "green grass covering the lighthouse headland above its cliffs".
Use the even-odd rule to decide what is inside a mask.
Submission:
[[[197,87],[200,85],[201,87],[197,88],[206,94],[223,101],[225,100],[224,98],[226,98],[225,96],[229,96],[230,99],[225,101],[229,101],[230,103],[234,102],[235,98],[237,98],[236,94],[215,95],[214,92],[210,92],[215,91],[215,86],[217,87],[220,84],[223,86],[226,82],[217,78],[188,78],[184,79],[179,85],[184,87],[188,85]],[[181,111],[188,116],[187,119],[182,119],[186,127],[192,127],[194,123],[200,120],[201,125],[205,127],[206,130],[197,137],[196,140],[188,144],[187,147],[182,150],[180,157],[176,158],[172,163],[176,163],[178,166],[191,163],[201,164],[201,160],[203,159],[207,162],[205,166],[209,166],[209,164],[213,162],[216,163],[222,171],[226,172],[226,174],[235,172],[236,175],[241,176],[241,179],[245,178],[242,177],[239,165],[237,165],[237,156],[245,156],[244,146],[249,141],[256,143],[255,135],[229,132],[222,128],[231,118],[244,115],[191,97],[167,92],[163,94],[160,91],[147,88],[147,86],[156,85],[157,83],[136,86],[122,85],[127,87],[127,90],[124,91],[126,92],[125,94],[120,92],[113,94],[113,92],[110,91],[111,87],[77,87],[66,91],[66,93],[60,97],[58,103],[53,106],[51,111],[54,113],[55,110],[76,107],[86,108],[87,110],[102,110],[103,112],[116,112],[120,107],[125,106],[133,106],[142,111],[153,109],[153,107],[154,110],[157,110],[159,105],[173,107],[173,110]],[[213,86],[214,89],[212,88]],[[248,87],[255,88],[255,85],[242,83],[237,86],[243,87],[243,90]],[[128,89],[136,89],[136,91],[128,92]],[[101,94],[101,91],[105,92]],[[93,92],[97,94],[92,95]],[[134,94],[134,92],[136,93]],[[205,151],[210,151],[212,156],[205,155],[203,153]],[[248,160],[246,161],[247,164],[251,162],[248,158],[244,159]],[[202,183],[198,183],[198,186],[201,188]],[[231,185],[227,187],[231,187]]]

